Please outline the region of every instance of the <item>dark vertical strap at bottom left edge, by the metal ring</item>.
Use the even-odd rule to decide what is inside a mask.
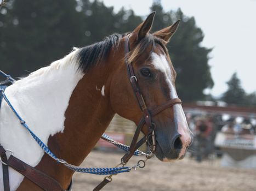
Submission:
[[[0,146],[0,156],[2,159],[2,162],[7,163],[7,156],[5,154],[5,150],[3,146]],[[8,165],[5,165],[2,163],[3,167],[3,186],[4,186],[4,191],[10,191],[10,183],[9,183],[9,170],[8,170]]]

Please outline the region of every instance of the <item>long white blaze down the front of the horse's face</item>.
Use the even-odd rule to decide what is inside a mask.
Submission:
[[[166,59],[165,55],[157,55],[157,53],[152,52],[152,64],[154,67],[164,75],[166,75],[166,83],[170,88],[170,98],[178,98],[176,89],[174,88],[173,84],[173,77],[172,77],[172,70],[170,69],[170,65]],[[190,138],[190,129],[187,125],[186,117],[183,111],[183,108],[180,104],[175,104],[173,106],[174,110],[174,118],[177,118],[177,126],[178,126],[178,133],[181,135],[180,139],[183,143],[183,147],[181,148],[179,158],[182,157],[186,152],[186,147],[189,146],[191,138]]]

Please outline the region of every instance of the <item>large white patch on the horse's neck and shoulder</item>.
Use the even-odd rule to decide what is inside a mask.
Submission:
[[[45,145],[49,136],[63,132],[71,94],[83,77],[82,72],[77,70],[76,52],[35,71],[5,90],[15,110]],[[0,143],[31,166],[36,166],[44,155],[42,148],[21,126],[4,100],[0,109]],[[24,178],[12,168],[9,168],[9,177],[10,190],[16,190]],[[2,164],[0,190],[3,190]]]

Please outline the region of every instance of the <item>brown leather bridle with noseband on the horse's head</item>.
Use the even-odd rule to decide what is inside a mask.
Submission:
[[[128,62],[128,53],[130,51],[129,38],[130,38],[130,35],[126,37],[126,41],[124,44],[124,55],[125,55],[124,62],[127,65],[128,77],[130,79],[130,83],[132,85],[134,95],[140,106],[140,110],[143,113],[143,117],[141,117],[141,120],[136,128],[136,131],[133,136],[133,140],[130,144],[129,151],[127,151],[126,154],[124,154],[124,156],[121,159],[121,162],[123,164],[126,164],[128,162],[128,160],[133,156],[134,151],[138,149],[142,144],[144,144],[144,142],[147,142],[147,145],[149,145],[150,147],[149,157],[151,158],[153,156],[153,153],[155,153],[155,150],[156,150],[156,137],[155,137],[156,125],[155,123],[152,122],[152,117],[159,114],[163,110],[166,110],[167,108],[172,107],[175,104],[181,104],[181,100],[179,98],[174,98],[174,99],[167,100],[167,102],[162,105],[158,105],[155,109],[151,111],[147,109],[147,105],[143,98],[143,94],[140,91],[138,79],[134,73],[133,65],[132,63]],[[138,141],[139,134],[145,123],[148,128],[148,133],[146,136],[144,136],[144,138]]]

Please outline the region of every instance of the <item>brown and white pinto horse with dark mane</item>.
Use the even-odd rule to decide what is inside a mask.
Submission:
[[[141,109],[131,80],[138,82],[149,111],[178,98],[176,73],[166,44],[179,21],[150,33],[154,15],[151,13],[133,32],[112,34],[93,45],[74,48],[64,58],[5,89],[16,111],[56,156],[80,165],[115,114],[135,124],[140,122]],[[128,36],[130,50],[126,53]],[[125,58],[132,63],[132,77],[127,75]],[[152,121],[156,126],[156,157],[163,162],[184,158],[192,133],[182,106],[168,107],[152,116]],[[142,132],[147,134],[146,124]],[[69,187],[74,172],[44,153],[4,101],[0,109],[0,143],[15,157],[54,178],[63,189]],[[9,179],[10,190],[42,190],[12,168]]]

